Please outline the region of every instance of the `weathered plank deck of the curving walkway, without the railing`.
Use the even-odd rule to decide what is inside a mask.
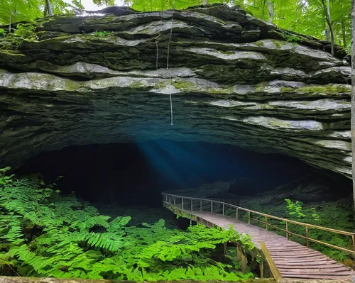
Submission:
[[[181,209],[179,204],[173,206],[168,201],[164,201],[164,204],[168,209],[170,207]],[[260,249],[260,242],[265,243],[275,266],[283,278],[346,279],[346,282],[355,282],[355,272],[350,270],[349,267],[281,235],[222,214],[195,209],[192,211],[185,210],[185,212],[200,218],[200,223],[208,221],[226,229],[232,225],[238,233],[249,234],[258,249]]]

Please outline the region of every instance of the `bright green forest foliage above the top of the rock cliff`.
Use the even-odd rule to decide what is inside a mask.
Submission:
[[[114,0],[92,0],[98,6],[114,5]],[[0,0],[0,23],[28,21],[43,16],[47,0]],[[351,2],[349,0],[124,0],[138,11],[186,9],[200,4],[239,5],[247,13],[297,33],[349,48],[351,38]],[[54,14],[83,9],[81,0],[50,0]],[[330,23],[330,25],[329,25]]]

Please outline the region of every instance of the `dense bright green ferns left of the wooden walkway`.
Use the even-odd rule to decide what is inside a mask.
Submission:
[[[6,170],[0,171],[3,275],[132,281],[253,276],[238,271],[235,257],[222,262],[215,256],[229,240],[252,245],[248,235],[201,225],[168,229],[163,219],[129,226],[130,216],[110,218],[38,175],[14,179]]]

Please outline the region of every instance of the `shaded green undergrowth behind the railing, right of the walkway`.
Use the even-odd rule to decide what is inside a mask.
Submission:
[[[339,199],[337,201],[315,203],[315,204],[303,204],[301,201],[291,201],[285,199],[283,204],[263,204],[263,199],[248,199],[244,200],[243,206],[263,213],[268,213],[273,216],[281,218],[287,218],[293,221],[299,221],[303,223],[310,223],[316,226],[322,226],[332,228],[340,231],[354,231],[354,221],[352,213],[351,199]],[[242,216],[244,221],[247,221],[247,215]],[[265,221],[265,218],[261,216],[252,215],[253,218],[258,218],[261,221]],[[263,223],[253,224],[265,228]],[[268,223],[282,228],[285,230],[285,223],[281,221],[268,220]],[[278,231],[276,228],[269,227],[269,231],[273,231],[280,235],[285,236],[285,232]],[[289,231],[297,233],[299,235],[306,236],[304,226],[298,226],[293,223],[289,224]],[[320,240],[331,245],[336,245],[341,248],[352,250],[351,236],[339,235],[328,231],[322,231],[316,228],[309,228],[309,236],[312,239]],[[304,238],[290,235],[290,240],[294,240],[302,245],[306,244]],[[310,242],[310,248],[319,250],[320,252],[332,257],[334,260],[344,263],[349,267],[354,266],[354,260],[351,253],[343,252],[334,248],[327,247],[318,243]]]

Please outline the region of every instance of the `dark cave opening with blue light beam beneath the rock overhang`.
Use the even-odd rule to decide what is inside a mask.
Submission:
[[[43,174],[64,194],[92,203],[161,207],[161,192],[200,187],[236,179],[233,194],[251,196],[296,179],[322,182],[339,198],[351,193],[351,182],[316,170],[287,155],[251,152],[235,145],[150,140],[142,143],[72,145],[42,152],[15,174]],[[342,187],[339,192],[339,187]],[[342,195],[341,195],[342,194]],[[216,196],[223,197],[224,196]]]

